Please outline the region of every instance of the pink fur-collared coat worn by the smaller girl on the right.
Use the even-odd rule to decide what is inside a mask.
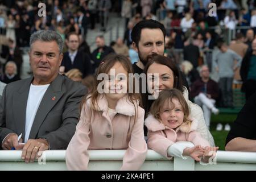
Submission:
[[[195,130],[197,129],[198,121],[192,119],[191,126],[179,126],[176,130],[170,129],[163,125],[154,118],[153,115],[148,115],[145,120],[145,125],[148,129],[147,146],[159,154],[165,156],[167,159],[171,159],[171,156],[167,155],[167,149],[172,144],[178,141],[188,141],[195,145],[210,146],[210,143],[205,140]]]

